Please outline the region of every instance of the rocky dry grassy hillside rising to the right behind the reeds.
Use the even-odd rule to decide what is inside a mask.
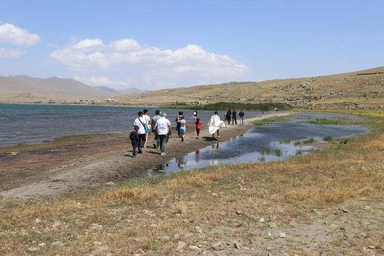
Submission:
[[[378,109],[384,105],[384,67],[335,75],[164,89],[117,98],[119,104],[131,105],[224,101],[285,102],[297,108],[314,109]]]

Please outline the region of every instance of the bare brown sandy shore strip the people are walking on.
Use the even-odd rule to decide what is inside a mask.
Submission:
[[[252,121],[290,113],[273,113],[244,120],[244,125],[229,125],[220,130],[220,139],[212,139],[202,124],[201,138],[190,129],[184,142],[176,131],[166,144],[166,156],[152,148],[153,135],[143,154],[132,158],[132,146],[126,134],[102,136],[81,144],[50,147],[0,157],[0,198],[33,200],[56,198],[73,191],[90,189],[118,181],[146,177],[148,170],[170,159],[186,155],[208,145],[227,141],[252,127]],[[190,126],[193,126],[190,124]]]

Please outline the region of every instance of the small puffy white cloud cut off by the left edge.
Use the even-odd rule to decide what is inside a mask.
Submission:
[[[18,28],[9,23],[0,25],[0,42],[33,46],[39,41],[41,41],[41,39],[37,34],[31,34],[26,29]]]

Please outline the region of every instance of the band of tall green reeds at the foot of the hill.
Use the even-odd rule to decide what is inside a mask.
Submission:
[[[179,110],[211,110],[227,111],[229,109],[246,111],[273,111],[279,108],[280,111],[288,111],[292,106],[285,103],[236,103],[236,102],[217,102],[204,105],[160,105],[161,109],[179,109]]]

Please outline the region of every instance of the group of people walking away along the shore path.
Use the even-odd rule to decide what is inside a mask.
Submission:
[[[165,144],[168,143],[169,137],[172,134],[172,125],[167,119],[167,114],[165,112],[156,110],[155,114],[156,115],[151,119],[150,116],[148,116],[148,110],[144,109],[142,112],[138,112],[138,117],[134,121],[134,130],[130,133],[130,139],[133,147],[132,157],[136,157],[137,153],[141,154],[142,148],[147,147],[150,132],[154,134],[153,147],[160,148],[160,154],[162,156],[165,156]],[[194,111],[194,117],[196,118],[196,139],[199,139],[201,120],[197,116],[198,111],[196,110]],[[226,113],[225,119],[228,120],[228,124],[230,124],[231,117],[232,124],[233,122],[237,124],[236,110],[228,110],[228,112]],[[239,117],[240,121],[244,125],[244,112],[242,110],[239,112]],[[182,111],[179,111],[175,121],[178,137],[181,139],[181,141],[184,141],[186,132],[188,131],[188,124],[185,120],[184,113]],[[219,129],[222,127],[226,127],[224,121],[220,120],[218,112],[215,111],[215,115],[211,116],[211,118],[209,119],[208,131],[210,134],[212,134],[212,137],[215,137],[215,133],[217,133],[217,137],[220,138]]]

